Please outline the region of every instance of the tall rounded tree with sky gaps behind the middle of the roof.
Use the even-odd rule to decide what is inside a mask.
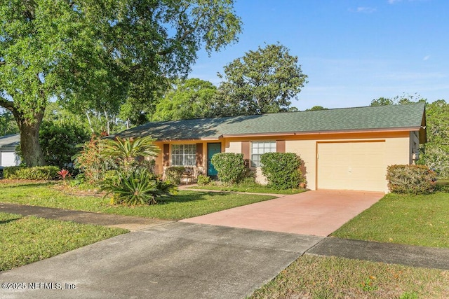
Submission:
[[[225,66],[219,87],[223,116],[288,111],[291,100],[307,83],[297,56],[274,44],[249,51]]]

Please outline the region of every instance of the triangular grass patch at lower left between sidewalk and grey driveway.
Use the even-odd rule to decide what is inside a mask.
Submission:
[[[119,228],[6,213],[0,213],[0,231],[0,271],[128,232]]]

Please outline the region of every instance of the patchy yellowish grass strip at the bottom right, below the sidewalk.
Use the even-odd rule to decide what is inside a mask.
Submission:
[[[301,256],[250,298],[449,298],[449,271]]]

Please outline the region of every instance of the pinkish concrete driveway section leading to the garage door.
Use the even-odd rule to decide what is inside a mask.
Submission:
[[[384,193],[316,190],[183,220],[189,223],[326,237]]]

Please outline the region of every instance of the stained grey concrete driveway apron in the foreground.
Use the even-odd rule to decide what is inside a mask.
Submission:
[[[0,272],[0,298],[244,298],[322,239],[168,223]]]

